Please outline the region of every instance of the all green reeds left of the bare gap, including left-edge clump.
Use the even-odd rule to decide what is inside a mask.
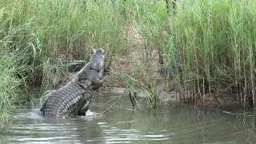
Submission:
[[[43,91],[57,86],[66,80],[75,59],[90,58],[92,47],[103,47],[110,65],[126,47],[122,2],[0,1],[1,62],[5,64],[0,74],[5,82],[1,118],[13,106],[13,91],[20,81],[42,85]]]

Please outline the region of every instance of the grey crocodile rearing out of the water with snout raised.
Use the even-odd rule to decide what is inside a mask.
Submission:
[[[90,61],[68,82],[57,90],[46,94],[42,103],[42,116],[49,118],[74,118],[86,115],[92,92],[102,86],[105,54],[104,50],[93,50]]]

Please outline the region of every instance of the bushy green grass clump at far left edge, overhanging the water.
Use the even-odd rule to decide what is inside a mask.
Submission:
[[[11,49],[12,38],[16,29],[8,26],[10,19],[3,19],[7,15],[5,10],[0,11],[0,132],[8,123],[10,109],[14,106],[14,99],[18,93],[18,86],[22,84],[22,78],[18,75],[22,66],[18,66],[19,57]]]

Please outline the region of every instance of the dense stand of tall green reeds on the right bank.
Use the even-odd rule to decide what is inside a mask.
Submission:
[[[186,100],[228,93],[255,103],[255,10],[252,1],[178,2],[166,55]]]

